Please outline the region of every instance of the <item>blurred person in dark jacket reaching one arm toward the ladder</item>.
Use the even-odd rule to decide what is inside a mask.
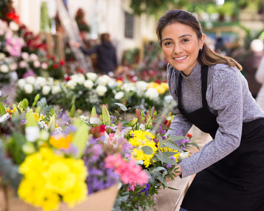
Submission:
[[[84,54],[97,54],[97,68],[101,74],[113,74],[117,67],[116,48],[110,41],[110,34],[103,33],[101,35],[101,44],[94,46],[91,49],[83,48],[80,43],[74,43],[74,46],[81,48]]]

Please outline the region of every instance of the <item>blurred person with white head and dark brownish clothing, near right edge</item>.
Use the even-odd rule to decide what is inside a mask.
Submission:
[[[255,79],[255,74],[257,68],[259,67],[259,62],[263,56],[263,48],[264,44],[262,40],[254,39],[250,43],[250,55],[246,58],[244,64],[248,87],[253,98],[256,98],[257,93],[259,92],[259,89],[261,87],[261,83],[258,83],[258,81]]]

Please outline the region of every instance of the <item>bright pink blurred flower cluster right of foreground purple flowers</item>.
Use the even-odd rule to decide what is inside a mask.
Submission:
[[[148,182],[149,176],[142,168],[136,165],[135,160],[127,162],[122,159],[121,154],[108,155],[105,159],[105,167],[113,168],[115,173],[120,175],[124,184],[130,184],[130,189],[135,190],[136,185],[144,185]]]

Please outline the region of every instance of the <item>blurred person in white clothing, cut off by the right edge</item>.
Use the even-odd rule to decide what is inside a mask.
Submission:
[[[262,59],[259,62],[255,79],[258,83],[262,84],[256,96],[256,102],[259,104],[260,108],[264,110],[264,56],[262,56]]]

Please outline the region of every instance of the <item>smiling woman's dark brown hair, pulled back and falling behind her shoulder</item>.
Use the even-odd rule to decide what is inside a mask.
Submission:
[[[193,14],[184,10],[168,10],[157,22],[156,34],[160,46],[162,46],[162,30],[167,25],[173,23],[180,23],[190,26],[196,32],[198,39],[202,38],[203,33],[201,24]],[[201,65],[215,65],[223,63],[229,65],[230,67],[237,67],[239,70],[242,70],[242,66],[235,59],[217,54],[206,43],[204,43],[202,51],[199,51],[197,60]]]

